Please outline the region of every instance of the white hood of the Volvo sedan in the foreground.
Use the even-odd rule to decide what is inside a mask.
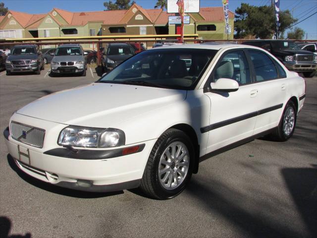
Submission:
[[[185,90],[93,83],[50,94],[17,113],[64,124],[111,127],[185,98]]]

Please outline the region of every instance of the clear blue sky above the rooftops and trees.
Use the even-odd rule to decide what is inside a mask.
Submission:
[[[4,5],[11,10],[28,13],[47,13],[53,7],[69,11],[100,11],[105,9],[105,0],[1,0]],[[115,0],[113,0],[115,1]],[[132,0],[131,0],[132,1]],[[144,8],[154,8],[157,0],[135,0],[137,4]],[[309,15],[317,12],[317,0],[280,0],[282,10],[289,9],[293,16],[299,21],[304,20]],[[235,9],[241,5],[241,2],[251,5],[269,4],[270,0],[229,0],[229,9]],[[221,0],[200,0],[201,7],[221,6]],[[297,24],[296,26],[304,29],[308,39],[317,39],[317,14]],[[306,35],[305,35],[306,39]]]

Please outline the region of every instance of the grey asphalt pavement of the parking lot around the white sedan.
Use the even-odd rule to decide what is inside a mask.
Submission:
[[[29,102],[97,79],[94,69],[85,77],[0,72],[0,130]],[[256,139],[207,159],[188,188],[166,201],[33,179],[15,167],[0,136],[0,237],[317,237],[317,77],[306,78],[289,141]]]

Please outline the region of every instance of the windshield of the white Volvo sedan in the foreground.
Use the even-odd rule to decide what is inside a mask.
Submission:
[[[124,61],[98,82],[193,89],[215,50],[158,49]]]

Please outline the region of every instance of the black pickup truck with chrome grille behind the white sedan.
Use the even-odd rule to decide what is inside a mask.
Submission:
[[[317,56],[303,51],[290,40],[254,40],[242,44],[261,47],[270,52],[292,71],[301,72],[305,77],[313,77],[317,69]]]

